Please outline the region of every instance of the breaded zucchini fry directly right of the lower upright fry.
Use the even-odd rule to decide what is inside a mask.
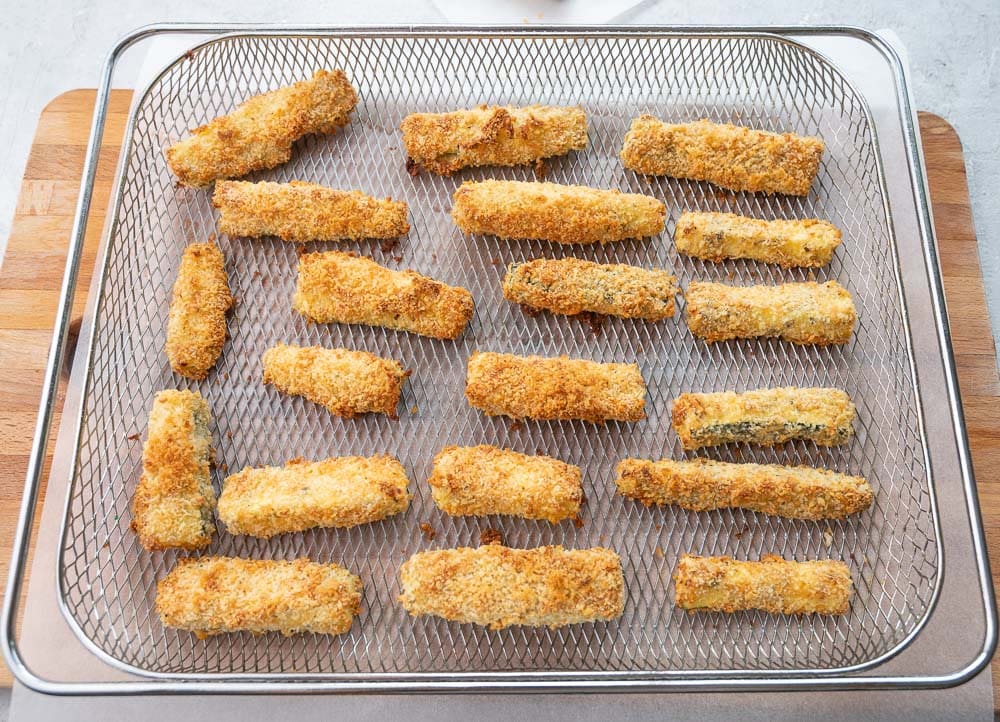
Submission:
[[[341,456],[284,468],[246,468],[223,484],[219,519],[230,534],[268,539],[313,527],[349,527],[406,511],[409,480],[391,456]]]

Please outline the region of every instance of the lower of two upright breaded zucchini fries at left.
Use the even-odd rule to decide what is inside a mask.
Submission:
[[[201,549],[212,541],[211,420],[196,391],[161,391],[153,400],[132,498],[132,531],[146,549]]]

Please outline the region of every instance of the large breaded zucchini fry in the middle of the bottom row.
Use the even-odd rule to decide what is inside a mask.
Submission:
[[[621,559],[601,547],[438,549],[414,554],[399,575],[399,601],[411,615],[490,629],[606,621],[625,607]]]

